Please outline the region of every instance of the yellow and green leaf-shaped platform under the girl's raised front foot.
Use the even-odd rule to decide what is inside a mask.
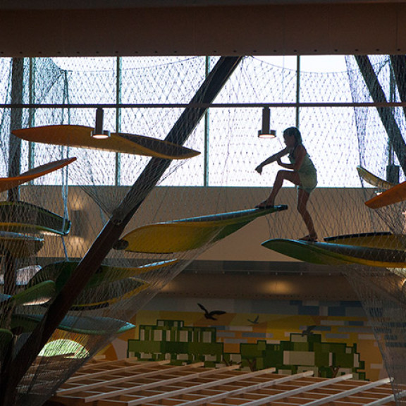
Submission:
[[[260,216],[286,209],[282,205],[150,224],[130,231],[113,248],[151,254],[196,250],[235,233]]]

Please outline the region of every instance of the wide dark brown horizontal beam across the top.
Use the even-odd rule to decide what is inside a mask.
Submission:
[[[0,1],[1,56],[406,54],[400,0],[54,1]]]

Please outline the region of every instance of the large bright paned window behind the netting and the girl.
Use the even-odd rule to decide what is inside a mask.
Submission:
[[[104,105],[105,128],[164,140],[218,59],[32,59],[25,60],[19,77],[15,72],[12,75],[11,61],[4,59],[1,69],[8,75],[2,75],[1,97],[5,104],[13,103],[13,89],[21,86],[24,103],[48,104],[47,109],[24,109],[23,127],[60,123],[93,126],[96,106]],[[376,57],[373,63],[383,90],[390,92],[388,59]],[[388,159],[396,159],[393,154],[390,157],[390,151],[376,149],[369,138],[371,134],[381,137],[387,147],[387,129],[374,107],[350,105],[373,101],[365,89],[357,65],[345,56],[247,57],[216,97],[216,106],[185,143],[202,154],[190,161],[174,161],[161,185],[269,186],[277,165],[267,167],[264,176],[258,176],[254,167],[284,147],[283,129],[293,125],[300,128],[318,168],[319,186],[359,187],[359,164],[374,166],[376,174],[383,176],[385,164],[376,156],[384,153]],[[345,106],[340,105],[343,103]],[[52,104],[58,106],[52,108]],[[257,137],[266,104],[271,107],[271,127],[278,134],[274,140]],[[10,109],[3,110],[4,134],[11,116]],[[404,118],[398,121],[402,130]],[[6,171],[8,147],[2,147]],[[70,173],[70,183],[90,185],[131,185],[149,160],[23,142],[22,169],[63,156],[78,156],[87,168],[76,175]],[[49,182],[58,182],[57,177]]]

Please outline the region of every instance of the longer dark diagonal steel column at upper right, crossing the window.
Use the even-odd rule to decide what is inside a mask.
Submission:
[[[359,70],[361,70],[362,77],[374,102],[386,103],[385,93],[376,77],[369,57],[365,55],[355,55],[355,60],[358,63]],[[400,133],[398,123],[396,123],[395,117],[393,117],[392,111],[390,111],[388,107],[376,107],[376,110],[379,113],[379,117],[381,118],[383,127],[385,127],[389,140],[393,145],[393,151],[396,156],[398,156],[400,166],[403,172],[406,173],[406,145],[403,141],[402,133]]]

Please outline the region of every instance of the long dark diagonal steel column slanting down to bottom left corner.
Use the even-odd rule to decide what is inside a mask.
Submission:
[[[219,59],[219,62],[216,63],[216,66],[204,80],[190,103],[212,103],[241,59],[242,57],[239,56],[225,56]],[[207,107],[186,108],[168,133],[166,141],[184,144],[206,111]],[[1,406],[11,406],[8,400],[13,399],[16,387],[25,372],[59,326],[63,317],[66,316],[75,298],[78,297],[86,283],[99,268],[103,259],[120,237],[128,221],[133,217],[149,192],[154,189],[159,178],[170,164],[171,160],[168,159],[152,158],[149,161],[118,209],[97,236],[92,247],[78,264],[68,283],[49,306],[44,319],[37,325],[35,331],[32,332],[30,338],[27,339],[13,362],[11,362],[8,371],[6,371],[7,374],[4,374],[3,380],[0,382]]]

